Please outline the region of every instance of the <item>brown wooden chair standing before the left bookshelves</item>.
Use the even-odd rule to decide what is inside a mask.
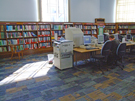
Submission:
[[[23,50],[19,50],[20,45],[10,45],[10,48],[11,48],[11,60],[14,54],[18,54],[19,60],[20,60],[20,54],[22,54],[22,57],[23,57]]]

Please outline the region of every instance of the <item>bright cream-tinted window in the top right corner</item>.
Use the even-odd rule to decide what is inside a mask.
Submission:
[[[135,22],[135,0],[117,0],[116,22]]]

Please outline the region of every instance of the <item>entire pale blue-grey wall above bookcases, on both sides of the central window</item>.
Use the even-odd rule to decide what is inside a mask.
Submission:
[[[0,0],[0,21],[38,21],[38,0]],[[71,22],[115,22],[116,0],[70,0]]]

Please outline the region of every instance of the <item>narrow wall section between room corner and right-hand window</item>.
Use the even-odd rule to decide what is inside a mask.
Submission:
[[[100,0],[100,17],[106,23],[115,22],[116,0]]]

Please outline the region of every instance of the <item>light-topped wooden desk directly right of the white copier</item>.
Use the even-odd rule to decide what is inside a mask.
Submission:
[[[93,52],[100,51],[101,47],[99,47],[98,49],[90,49],[90,50],[86,50],[83,48],[74,48],[73,50],[74,50],[74,61],[77,66],[78,60],[90,59],[90,55],[92,55]]]

